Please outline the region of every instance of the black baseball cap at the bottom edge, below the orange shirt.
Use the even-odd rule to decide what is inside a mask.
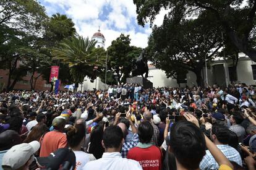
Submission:
[[[59,169],[60,165],[69,166],[67,169],[72,166],[72,169],[75,169],[75,153],[68,148],[59,148],[48,157],[36,158],[36,162],[45,169]]]

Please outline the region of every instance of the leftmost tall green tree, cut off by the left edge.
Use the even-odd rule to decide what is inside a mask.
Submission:
[[[31,69],[19,61],[26,62],[28,51],[38,53],[35,44],[48,17],[33,0],[2,0],[0,9],[0,68],[8,70],[7,89],[11,90]]]

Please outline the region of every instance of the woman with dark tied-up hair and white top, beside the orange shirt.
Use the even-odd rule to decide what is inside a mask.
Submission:
[[[83,143],[85,143],[85,127],[83,124],[69,125],[66,135],[69,148],[75,153],[77,170],[82,169],[88,161],[96,159],[92,154],[81,150]]]

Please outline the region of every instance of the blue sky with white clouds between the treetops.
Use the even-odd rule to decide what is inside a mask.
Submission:
[[[75,23],[77,32],[91,37],[100,26],[106,38],[106,47],[121,33],[129,34],[131,45],[145,48],[151,28],[137,24],[136,7],[132,0],[39,0],[48,15],[66,14]],[[161,25],[166,11],[156,16],[155,24]]]

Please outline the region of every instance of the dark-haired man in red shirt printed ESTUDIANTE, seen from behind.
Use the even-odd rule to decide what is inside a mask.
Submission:
[[[128,151],[127,158],[138,161],[143,170],[161,169],[161,150],[150,143],[153,136],[153,127],[150,122],[142,122],[139,125],[138,135],[140,142]]]

